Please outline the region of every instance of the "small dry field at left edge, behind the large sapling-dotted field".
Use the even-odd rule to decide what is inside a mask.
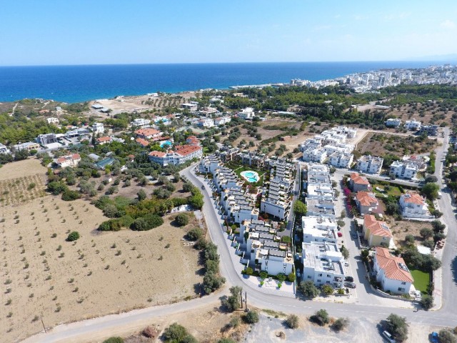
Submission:
[[[46,168],[37,159],[9,163],[0,168],[0,208],[44,197]]]

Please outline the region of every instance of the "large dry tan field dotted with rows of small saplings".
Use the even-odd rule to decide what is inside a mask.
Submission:
[[[184,228],[168,216],[149,232],[99,233],[99,209],[51,196],[4,207],[0,217],[2,342],[41,331],[41,318],[52,327],[194,297],[202,280],[199,252],[181,241],[196,219]],[[81,238],[66,242],[74,230]]]

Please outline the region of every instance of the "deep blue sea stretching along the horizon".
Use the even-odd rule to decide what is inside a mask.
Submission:
[[[0,101],[69,103],[154,91],[175,93],[246,84],[318,81],[383,68],[422,68],[432,61],[2,66]],[[438,63],[437,63],[438,64]]]

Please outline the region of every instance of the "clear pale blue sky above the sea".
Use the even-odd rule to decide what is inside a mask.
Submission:
[[[456,0],[3,0],[0,65],[381,61],[457,53]]]

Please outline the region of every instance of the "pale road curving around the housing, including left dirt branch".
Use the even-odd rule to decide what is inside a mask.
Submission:
[[[443,149],[437,149],[437,171],[436,177],[438,177],[438,183],[443,188],[441,179],[441,159],[446,154],[448,146],[448,130],[444,131],[444,144]],[[439,163],[438,163],[439,162]],[[197,178],[194,173],[194,166],[184,169],[181,174],[187,177],[196,187],[201,188],[202,182]],[[259,292],[253,284],[247,284],[241,278],[241,275],[236,272],[232,264],[231,254],[226,245],[226,235],[221,230],[219,224],[219,218],[214,212],[212,207],[212,199],[209,194],[211,190],[205,184],[206,190],[204,193],[205,204],[202,209],[204,217],[206,219],[207,227],[209,228],[209,234],[211,239],[219,247],[219,254],[221,255],[221,274],[227,280],[227,287],[230,285],[241,286],[246,290],[248,294],[248,305],[264,309],[273,309],[282,312],[291,312],[296,314],[311,314],[316,310],[325,308],[331,316],[334,317],[349,317],[349,318],[360,318],[366,317],[373,320],[385,319],[388,314],[396,313],[403,317],[406,317],[408,322],[414,322],[417,324],[431,324],[436,326],[455,327],[457,326],[457,284],[454,282],[454,276],[451,272],[452,264],[457,264],[457,245],[456,245],[456,232],[457,220],[455,213],[457,213],[456,207],[451,204],[451,198],[447,189],[443,189],[443,198],[438,200],[438,204],[441,207],[443,214],[443,221],[446,222],[449,228],[448,232],[448,243],[445,246],[443,252],[443,306],[438,311],[418,311],[415,312],[413,309],[392,309],[380,304],[340,304],[336,302],[313,302],[303,301],[301,299],[280,297],[273,294],[265,294]],[[226,287],[226,288],[227,288]],[[29,337],[24,342],[30,343],[49,343],[49,342],[78,342],[78,339],[83,337],[96,336],[96,333],[102,331],[108,332],[119,332],[122,327],[129,328],[135,323],[153,319],[155,317],[161,317],[165,315],[171,315],[179,312],[191,312],[193,309],[199,309],[208,304],[214,304],[218,306],[220,294],[211,294],[210,296],[203,297],[200,299],[194,299],[190,302],[181,302],[177,304],[164,305],[160,307],[149,307],[147,309],[134,310],[132,312],[126,312],[123,314],[109,315],[105,317],[99,317],[96,319],[89,319],[82,322],[75,322],[71,324],[60,325],[55,327],[50,332],[44,334],[36,334],[33,337]]]

